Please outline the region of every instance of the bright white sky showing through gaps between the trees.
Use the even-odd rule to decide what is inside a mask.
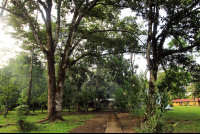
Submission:
[[[124,18],[125,16],[134,15],[133,12],[131,12],[130,9],[124,9],[122,10],[121,18]],[[141,20],[138,20],[137,22],[141,22]],[[19,44],[17,44],[17,40],[12,39],[10,35],[5,34],[5,32],[2,30],[3,24],[0,22],[0,68],[3,65],[6,65],[6,62],[9,58],[13,58],[16,56],[17,52],[20,52],[21,49],[19,48]],[[10,31],[11,29],[7,29]],[[7,50],[7,51],[6,51]],[[124,56],[125,58],[130,58],[130,55],[127,54]],[[138,71],[146,70],[146,64],[147,61],[142,56],[136,56],[135,57],[135,65],[139,65]],[[197,63],[200,63],[200,58],[197,59]],[[148,75],[149,77],[149,75]]]

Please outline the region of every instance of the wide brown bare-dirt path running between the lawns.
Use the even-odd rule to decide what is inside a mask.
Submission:
[[[100,111],[100,112],[71,112],[71,114],[95,114],[93,118],[85,121],[84,125],[74,128],[70,133],[109,133],[109,129],[112,123],[111,120],[115,120],[116,126],[120,126],[120,133],[135,133],[134,127],[136,127],[138,120],[133,118],[129,113],[121,113],[118,111]],[[70,115],[71,115],[70,114]],[[117,116],[117,119],[114,117]],[[110,120],[110,121],[109,121]],[[120,122],[120,123],[118,123]],[[117,133],[117,132],[112,132]],[[119,133],[119,132],[118,132]]]

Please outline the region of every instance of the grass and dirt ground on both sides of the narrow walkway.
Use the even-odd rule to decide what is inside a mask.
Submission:
[[[169,110],[165,113],[164,120],[167,124],[177,123],[175,133],[199,133],[200,132],[200,114],[199,106],[176,106],[174,110]],[[47,110],[41,113],[41,110],[36,110],[31,115],[27,115],[26,120],[30,122],[40,121],[46,117]],[[135,133],[135,128],[139,128],[139,123],[142,122],[142,113],[140,118],[130,113],[117,111],[117,116],[124,133]],[[109,111],[88,111],[76,112],[67,110],[63,111],[64,121],[59,122],[41,122],[34,123],[32,130],[28,133],[105,133],[106,123],[109,116]],[[18,126],[15,124],[17,117],[15,112],[9,111],[6,118],[0,115],[0,133],[21,133]],[[139,122],[141,120],[141,122]],[[10,124],[10,125],[6,125]],[[4,126],[5,125],[5,126]]]

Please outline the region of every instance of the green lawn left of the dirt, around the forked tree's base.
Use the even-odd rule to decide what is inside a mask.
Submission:
[[[31,112],[32,113],[32,112]],[[47,110],[44,110],[44,113],[41,113],[41,110],[35,111],[34,114],[27,116],[26,120],[30,122],[39,121],[46,117]],[[55,123],[35,123],[37,126],[36,130],[28,131],[28,133],[69,133],[73,128],[76,128],[82,124],[84,121],[91,119],[94,117],[94,114],[86,114],[86,115],[63,115],[65,121],[58,121]],[[0,125],[4,125],[7,123],[15,123],[16,116],[15,112],[9,111],[9,114],[6,118],[3,115],[0,115]],[[0,128],[0,133],[21,133],[18,131],[16,125],[9,125]]]

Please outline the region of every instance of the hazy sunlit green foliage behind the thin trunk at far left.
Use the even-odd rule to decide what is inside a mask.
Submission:
[[[1,69],[0,76],[0,100],[8,101],[9,108],[18,104],[26,104],[29,87],[30,56],[27,52],[20,52],[15,59],[9,60],[8,65]],[[47,103],[47,82],[46,72],[38,56],[33,55],[33,79],[31,103]],[[46,95],[45,95],[46,93]],[[17,100],[17,102],[16,102]]]

